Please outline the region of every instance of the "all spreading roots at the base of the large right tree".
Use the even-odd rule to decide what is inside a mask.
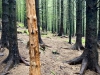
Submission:
[[[70,65],[80,64],[81,62],[82,62],[82,65],[81,65],[79,75],[83,75],[86,69],[96,71],[97,73],[100,74],[100,66],[98,65],[98,63],[95,64],[95,69],[89,68],[89,64],[88,64],[89,60],[83,55],[81,55],[73,60],[67,61],[67,63]]]

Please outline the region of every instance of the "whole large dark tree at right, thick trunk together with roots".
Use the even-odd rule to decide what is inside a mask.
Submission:
[[[69,64],[82,62],[80,75],[86,69],[96,71],[100,74],[97,52],[97,0],[86,0],[86,42],[85,50],[81,56],[70,60]]]

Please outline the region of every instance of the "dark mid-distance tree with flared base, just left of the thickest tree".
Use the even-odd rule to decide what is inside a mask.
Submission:
[[[76,1],[76,43],[72,49],[84,49],[82,46],[82,0]]]

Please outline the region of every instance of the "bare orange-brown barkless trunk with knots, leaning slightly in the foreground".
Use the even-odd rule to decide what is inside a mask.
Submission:
[[[40,75],[40,53],[38,43],[37,17],[35,10],[35,0],[26,0],[27,22],[29,30],[29,54],[30,73],[29,75]]]

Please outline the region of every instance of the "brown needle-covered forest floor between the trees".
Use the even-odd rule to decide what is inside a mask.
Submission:
[[[26,48],[28,35],[25,33],[18,34],[18,48],[20,54],[29,61],[29,50]],[[42,35],[42,39],[46,45],[45,51],[40,48],[41,73],[42,75],[78,75],[81,65],[69,65],[64,61],[71,60],[82,54],[82,51],[71,50],[68,43],[68,37],[58,37],[53,34]],[[75,41],[75,37],[73,38]],[[100,50],[99,55],[100,55]],[[5,50],[4,56],[0,56],[0,63],[7,57],[8,50]],[[99,56],[100,58],[100,56]],[[100,61],[99,61],[100,64]],[[0,72],[5,64],[0,65]],[[29,66],[20,63],[12,68],[7,75],[29,75]],[[87,70],[84,75],[99,75],[93,71]]]

